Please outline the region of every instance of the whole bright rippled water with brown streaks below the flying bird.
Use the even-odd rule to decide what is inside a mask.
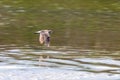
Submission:
[[[2,80],[7,80],[6,78],[14,80],[14,77],[16,77],[15,80],[25,80],[28,75],[28,79],[32,80],[42,80],[45,75],[49,75],[49,80],[119,79],[120,51],[81,49],[71,46],[51,46],[49,48],[4,46],[6,48],[1,48],[0,52]],[[20,75],[23,73],[25,74]],[[58,73],[61,75],[57,76]],[[66,73],[67,75],[64,76]],[[5,78],[5,75],[9,76]]]

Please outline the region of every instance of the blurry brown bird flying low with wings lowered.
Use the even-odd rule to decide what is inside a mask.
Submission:
[[[36,34],[39,34],[39,42],[40,44],[44,44],[47,47],[50,47],[50,35],[52,30],[40,30],[36,31]]]

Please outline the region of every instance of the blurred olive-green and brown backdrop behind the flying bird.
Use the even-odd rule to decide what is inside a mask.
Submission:
[[[51,29],[52,46],[120,49],[119,0],[1,0],[0,46],[39,46],[34,32]]]

